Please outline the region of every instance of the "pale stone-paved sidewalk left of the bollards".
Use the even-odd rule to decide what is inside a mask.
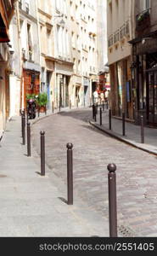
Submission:
[[[109,236],[107,219],[75,198],[68,206],[66,184],[21,144],[20,117],[11,119],[0,143],[0,236]]]

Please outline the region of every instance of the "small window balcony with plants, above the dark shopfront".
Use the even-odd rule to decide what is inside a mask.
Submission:
[[[136,31],[143,32],[150,26],[150,9],[146,9],[143,12],[136,15]]]

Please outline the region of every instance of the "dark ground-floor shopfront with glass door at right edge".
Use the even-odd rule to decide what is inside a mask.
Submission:
[[[157,126],[157,32],[132,40],[135,121]]]

